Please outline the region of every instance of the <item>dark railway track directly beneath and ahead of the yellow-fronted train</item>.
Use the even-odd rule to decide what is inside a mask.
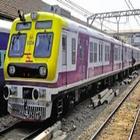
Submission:
[[[8,128],[0,131],[0,139],[14,139],[14,140],[29,140],[36,137],[41,133],[47,126],[43,124],[30,124],[22,121],[16,122]]]

